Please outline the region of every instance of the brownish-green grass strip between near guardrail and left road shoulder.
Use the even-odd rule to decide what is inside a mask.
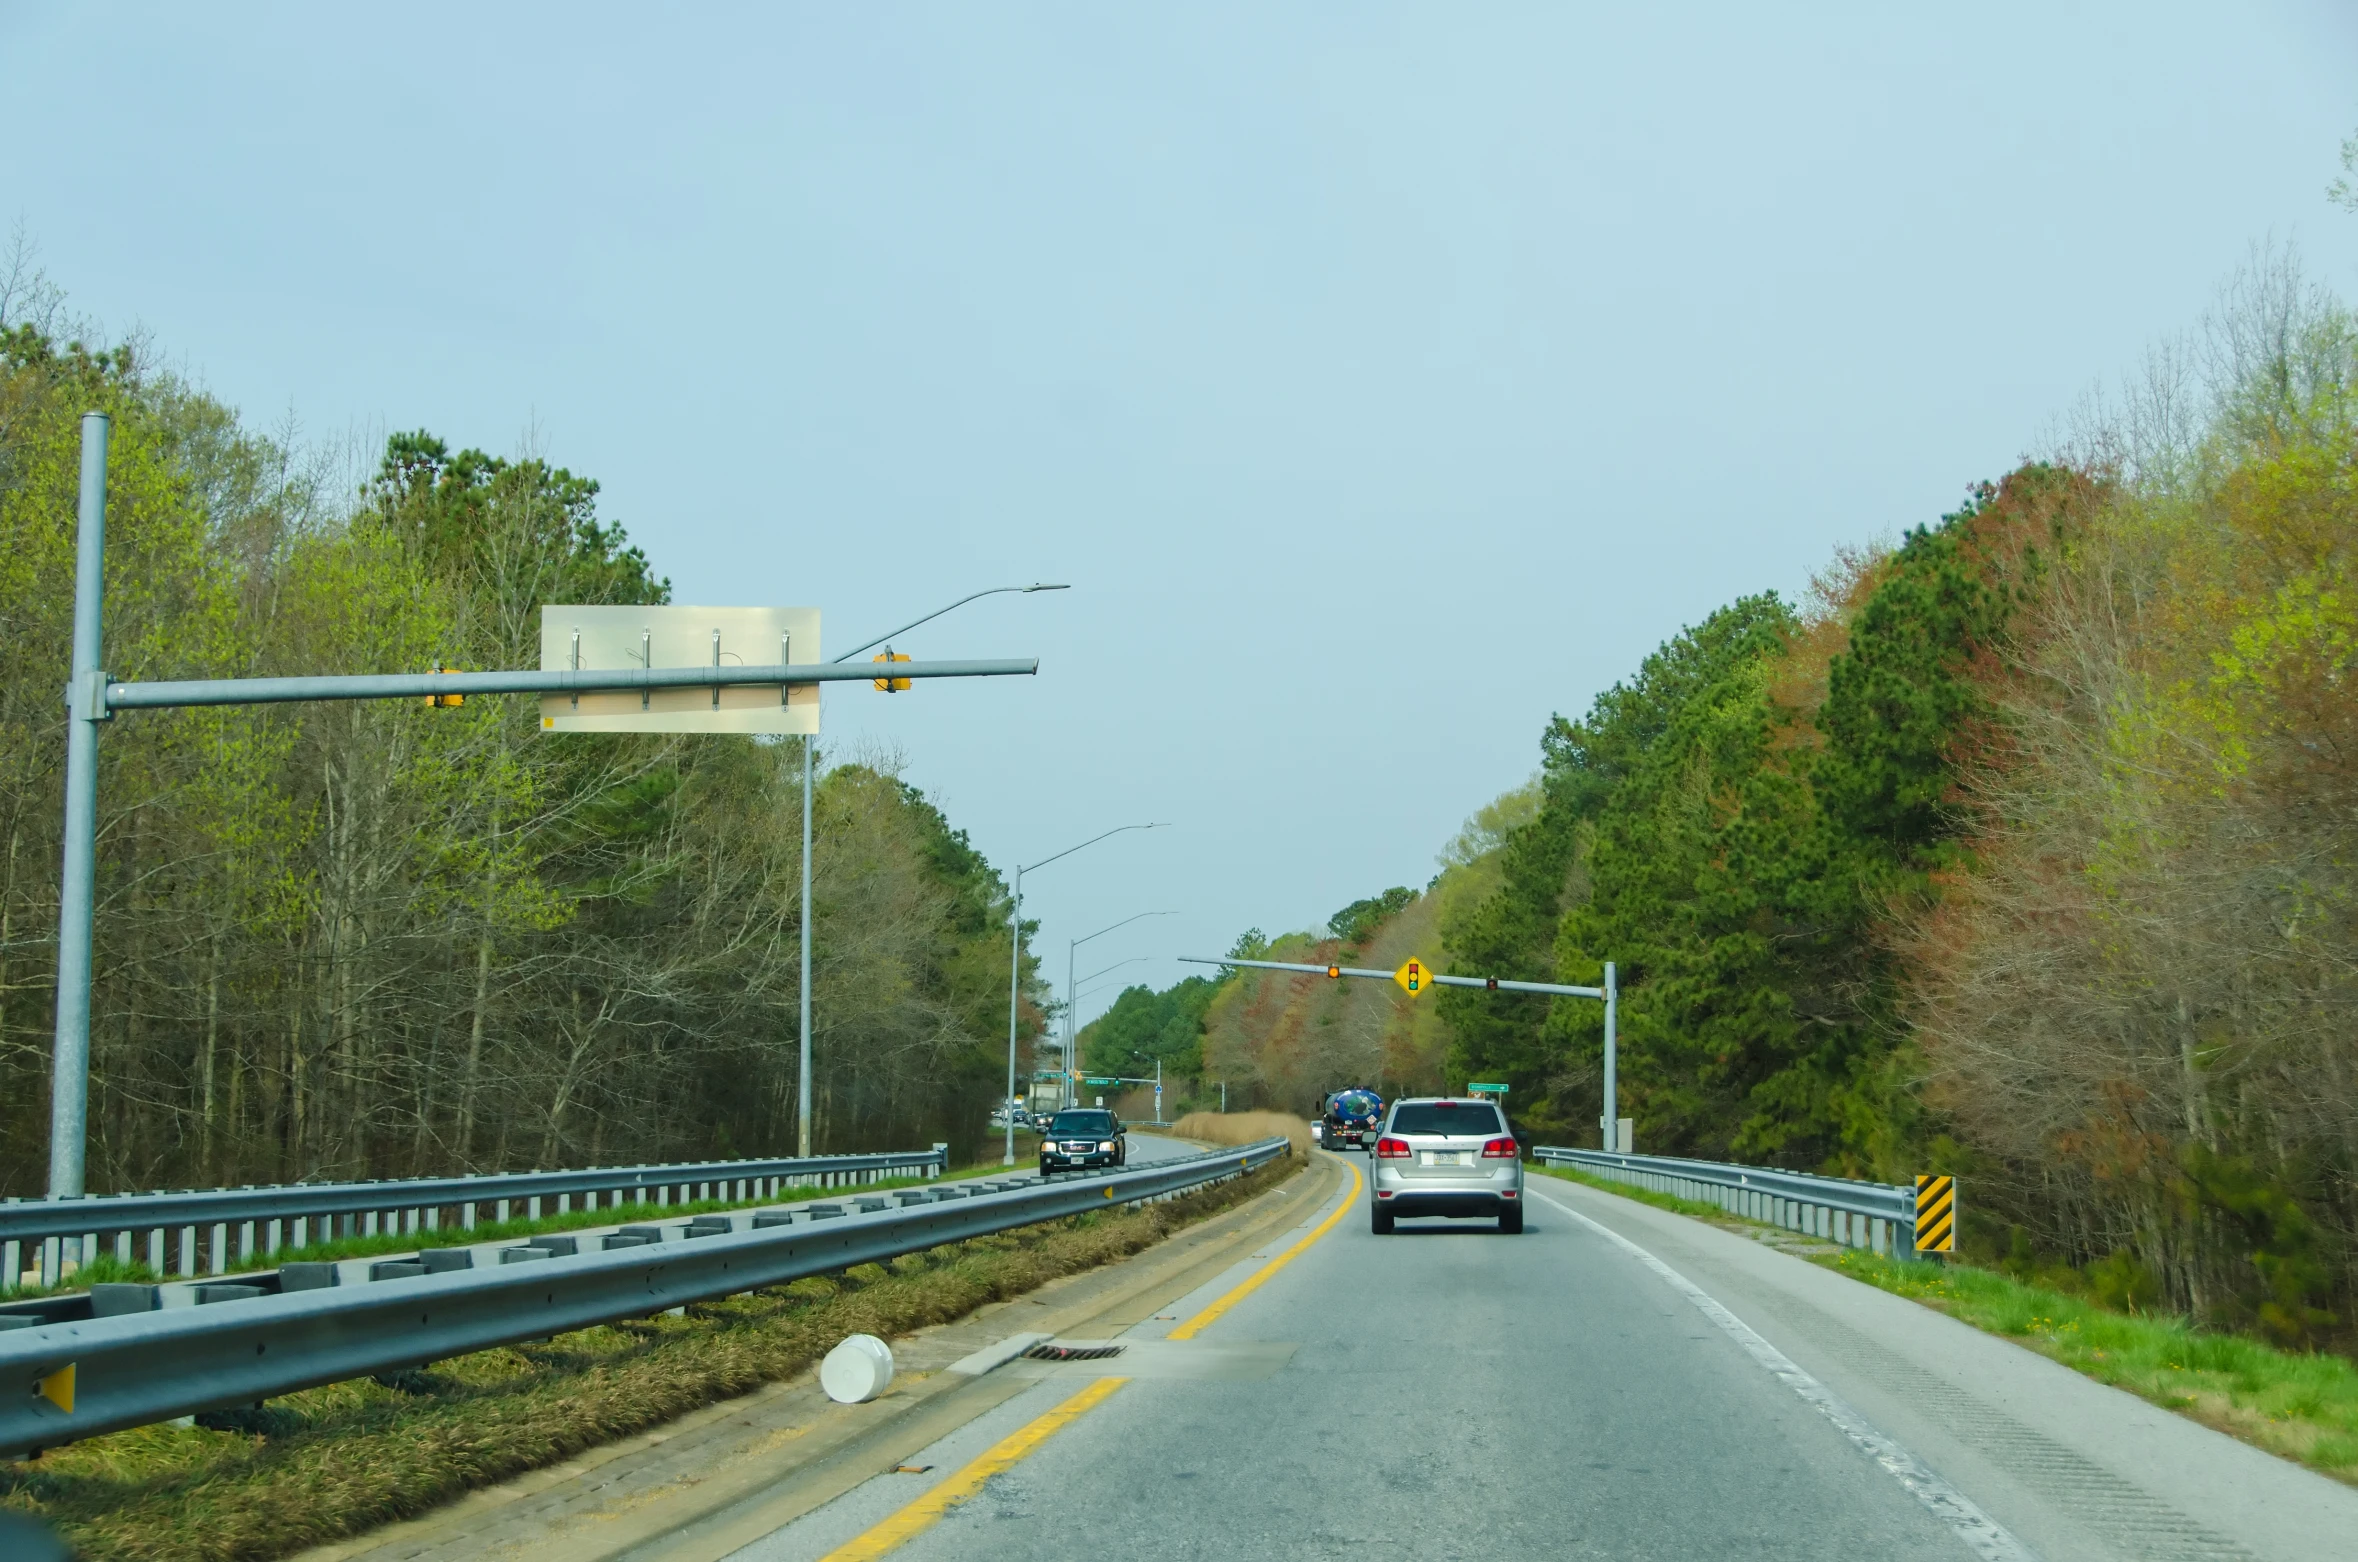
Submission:
[[[271,1399],[224,1430],[94,1437],[0,1465],[0,1505],[47,1517],[87,1562],[281,1557],[790,1378],[849,1333],[905,1335],[1129,1258],[1297,1168],[1280,1161],[1167,1203],[1092,1210],[698,1302],[677,1319],[483,1350],[389,1383],[332,1383]]]

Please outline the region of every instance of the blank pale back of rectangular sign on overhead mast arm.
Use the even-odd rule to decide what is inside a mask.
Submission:
[[[540,670],[780,668],[816,663],[816,606],[540,609]],[[903,680],[905,687],[905,680]],[[818,684],[542,694],[542,731],[818,734]]]

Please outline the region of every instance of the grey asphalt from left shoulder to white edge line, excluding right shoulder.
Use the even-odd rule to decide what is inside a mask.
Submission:
[[[1410,1222],[1379,1239],[1363,1203],[1186,1345],[1158,1335],[1233,1274],[1129,1331],[1122,1359],[1000,1369],[1132,1376],[891,1555],[1974,1555],[1594,1227],[1535,1201],[1521,1236]],[[929,1468],[736,1555],[823,1557],[1085,1387],[1042,1378],[915,1461]]]

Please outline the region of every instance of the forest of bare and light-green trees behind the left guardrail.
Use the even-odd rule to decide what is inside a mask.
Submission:
[[[45,1184],[85,411],[113,418],[116,677],[538,665],[540,604],[670,597],[587,477],[427,432],[307,453],[0,276],[12,1194]],[[92,1192],[792,1154],[799,739],[540,736],[531,701],[472,698],[132,713],[99,755]],[[1005,1069],[1007,890],[891,760],[842,760],[816,1147],[964,1151]],[[1028,949],[1023,982],[1040,1033]]]

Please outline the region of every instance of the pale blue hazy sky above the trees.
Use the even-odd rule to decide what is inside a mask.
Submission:
[[[2254,245],[2358,293],[2358,7],[28,5],[0,222],[248,420],[533,448],[1059,986],[1424,885],[1684,625],[1938,521]],[[330,668],[323,668],[330,670]]]

